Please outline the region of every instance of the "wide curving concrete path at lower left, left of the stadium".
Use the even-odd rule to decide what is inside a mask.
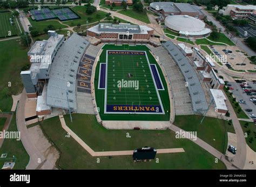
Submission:
[[[19,99],[17,107],[17,128],[21,132],[21,141],[26,149],[26,152],[29,154],[29,164],[26,166],[26,169],[53,169],[55,168],[55,163],[50,163],[48,160],[45,160],[44,155],[37,149],[35,144],[31,141],[28,128],[25,124],[25,103],[26,103],[26,91],[23,89],[21,98]],[[41,162],[38,163],[38,159]]]

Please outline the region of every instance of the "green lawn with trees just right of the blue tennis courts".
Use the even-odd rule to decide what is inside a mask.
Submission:
[[[103,11],[96,11],[93,12],[91,15],[88,15],[86,11],[86,6],[74,6],[71,8],[73,11],[75,11],[81,19],[75,19],[70,21],[63,21],[64,24],[67,24],[69,26],[77,26],[77,24],[85,25],[86,20],[91,17],[92,19],[89,21],[89,23],[94,23],[96,21],[99,21],[100,19],[105,18],[106,12]]]

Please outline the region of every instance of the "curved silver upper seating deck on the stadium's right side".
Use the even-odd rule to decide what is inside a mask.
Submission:
[[[191,66],[186,56],[181,53],[176,45],[171,41],[166,41],[163,46],[167,49],[174,61],[178,64],[181,72],[183,73],[190,92],[193,110],[196,112],[203,112],[207,110],[208,105],[203,88],[201,87],[199,78]]]

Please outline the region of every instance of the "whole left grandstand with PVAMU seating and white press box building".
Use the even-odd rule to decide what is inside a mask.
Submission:
[[[90,76],[97,51],[75,33],[66,41],[55,31],[48,34],[48,40],[31,47],[31,68],[21,72],[28,98],[37,98],[37,115],[50,114],[53,108],[93,114]],[[38,61],[31,60],[35,55]]]

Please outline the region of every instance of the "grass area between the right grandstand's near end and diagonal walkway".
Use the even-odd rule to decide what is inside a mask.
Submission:
[[[226,152],[227,132],[235,133],[233,125],[228,125],[228,121],[205,117],[202,124],[200,121],[203,117],[197,115],[176,116],[174,125],[185,131],[196,131],[198,138],[209,143],[212,147],[221,153]]]

